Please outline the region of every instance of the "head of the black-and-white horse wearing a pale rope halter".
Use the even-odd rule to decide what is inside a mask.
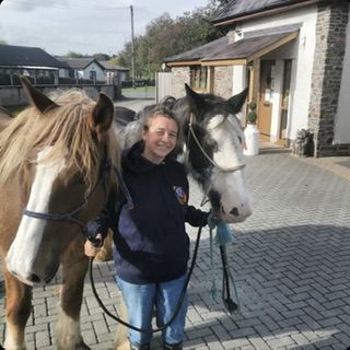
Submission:
[[[182,120],[185,162],[201,185],[212,210],[225,222],[242,222],[252,214],[243,155],[244,133],[236,117],[247,90],[224,100],[198,94],[186,85],[186,97],[173,104]]]

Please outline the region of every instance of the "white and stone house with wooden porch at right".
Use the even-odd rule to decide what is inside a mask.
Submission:
[[[176,97],[184,82],[225,98],[249,86],[267,139],[305,128],[315,156],[350,154],[348,0],[234,0],[212,24],[230,32],[165,60]]]

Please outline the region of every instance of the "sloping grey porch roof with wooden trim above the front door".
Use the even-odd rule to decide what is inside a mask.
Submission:
[[[256,56],[265,55],[298,36],[301,24],[291,24],[275,28],[267,28],[257,32],[244,33],[244,38],[230,43],[229,36],[210,42],[192,50],[180,55],[167,57],[165,62],[168,66],[190,66],[203,65],[210,66],[215,61],[253,60]]]

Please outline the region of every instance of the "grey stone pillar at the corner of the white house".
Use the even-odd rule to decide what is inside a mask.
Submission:
[[[308,128],[314,132],[315,156],[350,155],[350,144],[332,144],[340,92],[348,0],[318,5],[316,47],[308,107]]]

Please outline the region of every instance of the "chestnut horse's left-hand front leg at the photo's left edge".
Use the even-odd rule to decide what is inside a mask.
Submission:
[[[31,315],[32,288],[4,271],[7,289],[7,337],[4,348],[24,350],[24,328]]]

